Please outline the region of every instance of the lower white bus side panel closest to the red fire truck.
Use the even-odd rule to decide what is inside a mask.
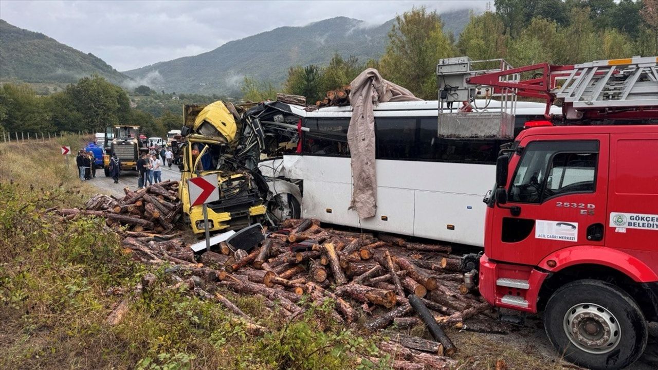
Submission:
[[[415,208],[415,236],[484,246],[482,196],[417,190]]]

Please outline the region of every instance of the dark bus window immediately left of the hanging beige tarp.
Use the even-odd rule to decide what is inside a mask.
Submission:
[[[303,152],[308,154],[347,156],[347,128],[349,118],[306,119],[304,126]]]

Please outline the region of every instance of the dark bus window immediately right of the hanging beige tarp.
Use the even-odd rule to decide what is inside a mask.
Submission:
[[[375,137],[379,159],[412,159],[416,156],[415,117],[376,117]]]

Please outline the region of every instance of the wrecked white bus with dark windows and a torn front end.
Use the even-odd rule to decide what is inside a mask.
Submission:
[[[484,245],[486,205],[482,198],[492,187],[500,145],[511,140],[439,138],[438,101],[376,105],[377,211],[374,217],[359,219],[357,212],[349,209],[352,176],[347,128],[351,107],[308,112],[296,105],[268,104],[269,111],[259,115],[262,124],[301,123],[301,144],[295,152],[259,165],[270,178],[270,190],[288,194],[291,215]],[[499,111],[499,103],[491,101],[488,110]],[[544,111],[544,103],[518,102],[515,136],[524,122],[543,120]],[[560,113],[559,108],[553,107],[551,113]]]

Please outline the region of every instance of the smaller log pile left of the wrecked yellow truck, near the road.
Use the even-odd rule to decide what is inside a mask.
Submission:
[[[178,182],[166,180],[147,188],[131,191],[124,188],[126,196],[115,198],[98,194],[89,199],[85,209],[57,209],[66,219],[78,215],[103,217],[107,225],[132,232],[158,235],[168,234],[181,217],[178,200]]]

